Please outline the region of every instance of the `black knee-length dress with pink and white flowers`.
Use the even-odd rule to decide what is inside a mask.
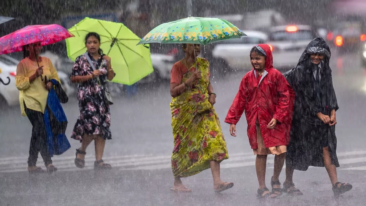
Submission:
[[[99,81],[93,78],[78,86],[80,116],[76,121],[71,138],[82,141],[83,135],[99,135],[103,139],[112,139],[110,130],[111,113],[104,95],[107,84],[107,63],[100,57],[97,61],[88,53],[95,68],[101,65]],[[84,55],[78,56],[70,76],[93,74],[93,68]]]

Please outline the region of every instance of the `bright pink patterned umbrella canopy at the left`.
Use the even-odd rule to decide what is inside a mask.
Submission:
[[[72,36],[64,27],[57,24],[26,26],[0,38],[0,55],[22,51],[23,46],[27,44],[41,42],[44,46]]]

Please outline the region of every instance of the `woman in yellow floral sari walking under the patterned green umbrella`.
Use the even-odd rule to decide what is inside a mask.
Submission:
[[[210,84],[209,62],[197,58],[201,51],[199,44],[183,44],[183,51],[185,58],[176,62],[171,71],[172,170],[175,178],[172,191],[191,192],[180,178],[211,168],[214,190],[221,192],[234,183],[220,179],[220,162],[227,159],[228,154],[213,107],[216,94]]]

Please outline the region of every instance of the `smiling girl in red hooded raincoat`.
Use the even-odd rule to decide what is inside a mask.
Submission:
[[[273,68],[272,52],[267,44],[254,46],[250,51],[250,59],[253,70],[245,74],[240,82],[238,94],[225,122],[230,124],[230,134],[236,136],[235,125],[245,110],[249,143],[257,155],[257,197],[274,198],[281,195],[279,175],[290,139],[295,93],[284,76]],[[271,179],[272,192],[265,184],[268,154],[276,155]]]

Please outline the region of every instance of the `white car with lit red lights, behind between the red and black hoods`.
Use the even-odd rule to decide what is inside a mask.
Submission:
[[[273,67],[295,67],[302,52],[314,36],[309,25],[275,26],[270,29],[268,44],[273,54]]]

